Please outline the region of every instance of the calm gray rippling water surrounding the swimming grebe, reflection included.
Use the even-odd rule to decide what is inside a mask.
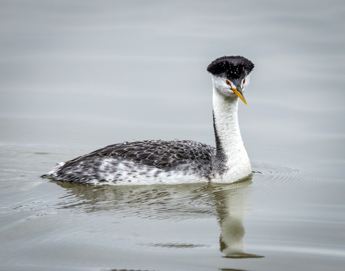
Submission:
[[[0,5],[0,270],[344,270],[343,1]],[[132,139],[214,144],[206,66],[223,55],[255,64],[252,177],[38,178]]]

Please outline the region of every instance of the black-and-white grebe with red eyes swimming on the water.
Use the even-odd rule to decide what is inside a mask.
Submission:
[[[254,64],[241,56],[217,58],[207,67],[213,81],[216,147],[187,140],[124,142],[59,163],[41,177],[91,184],[231,183],[251,173],[238,127],[238,99]]]

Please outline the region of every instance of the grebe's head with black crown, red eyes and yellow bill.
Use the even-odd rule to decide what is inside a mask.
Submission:
[[[253,62],[242,56],[219,57],[207,66],[216,90],[228,97],[238,96],[245,104],[243,93],[249,85],[253,69]]]

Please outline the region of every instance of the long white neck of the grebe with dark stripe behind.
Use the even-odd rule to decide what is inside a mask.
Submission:
[[[213,88],[213,126],[216,155],[213,174],[217,182],[235,182],[252,173],[237,118],[238,97],[228,97]]]

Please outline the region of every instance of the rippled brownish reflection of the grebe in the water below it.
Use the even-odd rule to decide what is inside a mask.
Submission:
[[[93,186],[76,185],[68,182],[55,182],[66,189],[66,196],[61,197],[58,206],[76,209],[74,212],[104,214],[111,217],[130,217],[136,219],[156,219],[168,221],[188,220],[190,230],[193,225],[206,223],[215,217],[220,226],[220,251],[226,258],[259,258],[261,256],[245,253],[243,219],[251,209],[250,185],[252,177],[232,184],[179,184],[179,185],[119,185]],[[126,221],[126,220],[123,220]],[[142,225],[145,222],[139,224]],[[166,222],[167,227],[171,222]],[[206,223],[207,224],[207,223]],[[205,224],[205,225],[206,225]],[[112,225],[110,224],[112,227]],[[105,225],[105,227],[107,227]],[[173,226],[174,228],[174,226]],[[200,227],[199,227],[200,228]],[[203,228],[203,227],[201,227]],[[113,228],[112,228],[113,229]],[[175,228],[174,228],[175,229]],[[188,227],[184,231],[188,231]],[[102,231],[107,231],[102,228]],[[172,229],[171,229],[172,230]],[[116,232],[116,229],[115,229]],[[193,239],[181,238],[171,234],[170,242],[165,235],[159,235],[156,242],[137,240],[144,246],[165,248],[196,248],[214,246],[204,240],[191,242]],[[208,238],[206,238],[208,240]],[[202,241],[201,238],[199,241]]]

